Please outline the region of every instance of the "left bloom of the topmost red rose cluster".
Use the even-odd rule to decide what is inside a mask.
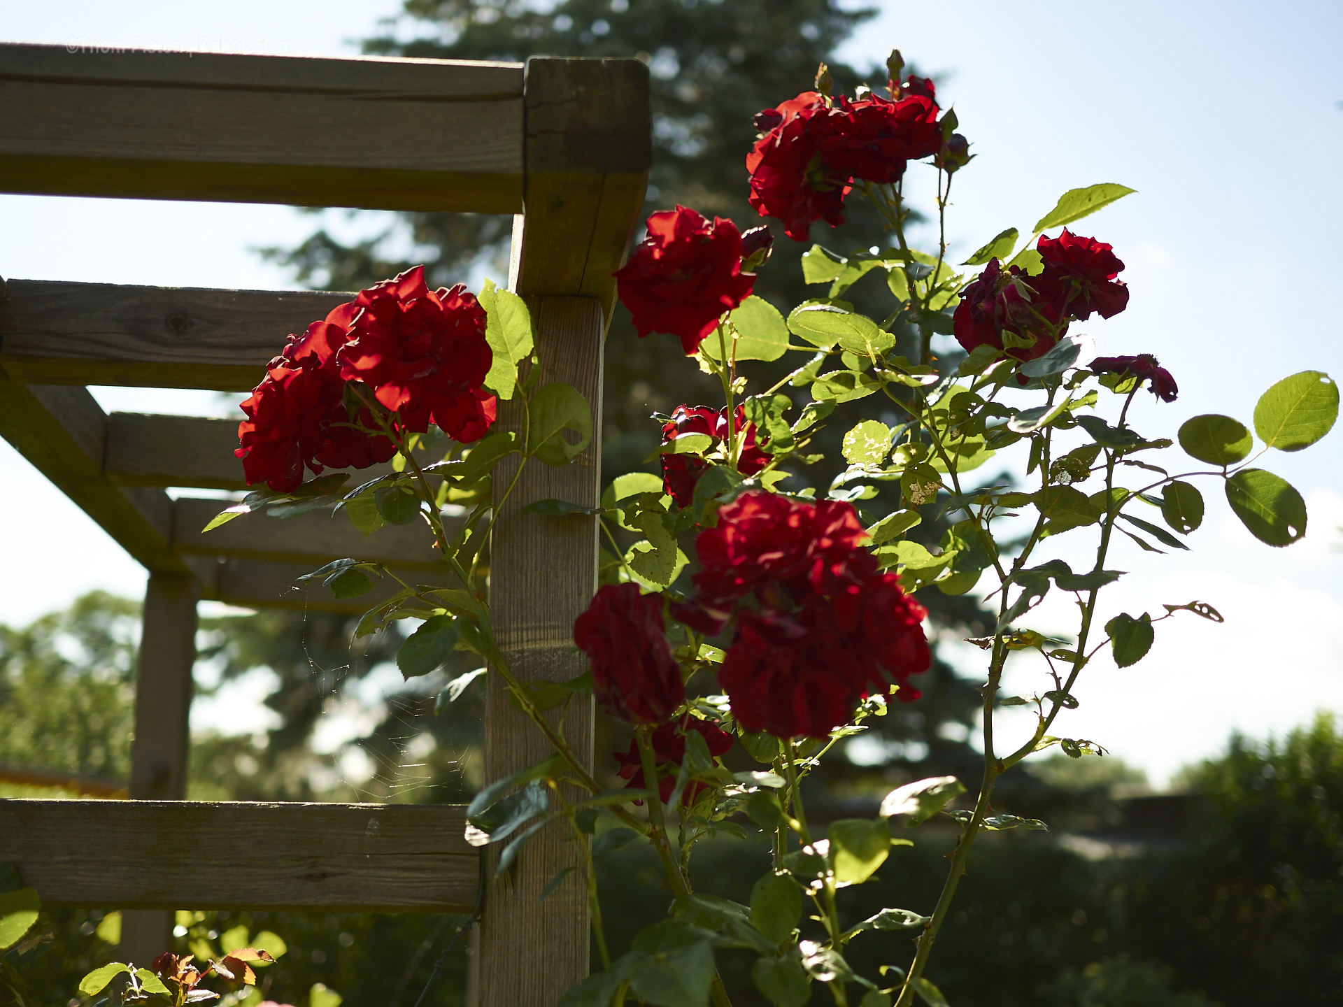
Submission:
[[[757,125],[768,125],[747,154],[751,175],[751,205],[760,216],[783,222],[783,232],[796,242],[807,240],[807,231],[817,220],[831,227],[843,223],[843,199],[849,195],[849,175],[826,165],[822,144],[839,132],[825,99],[804,91],[778,109],[756,115]]]

